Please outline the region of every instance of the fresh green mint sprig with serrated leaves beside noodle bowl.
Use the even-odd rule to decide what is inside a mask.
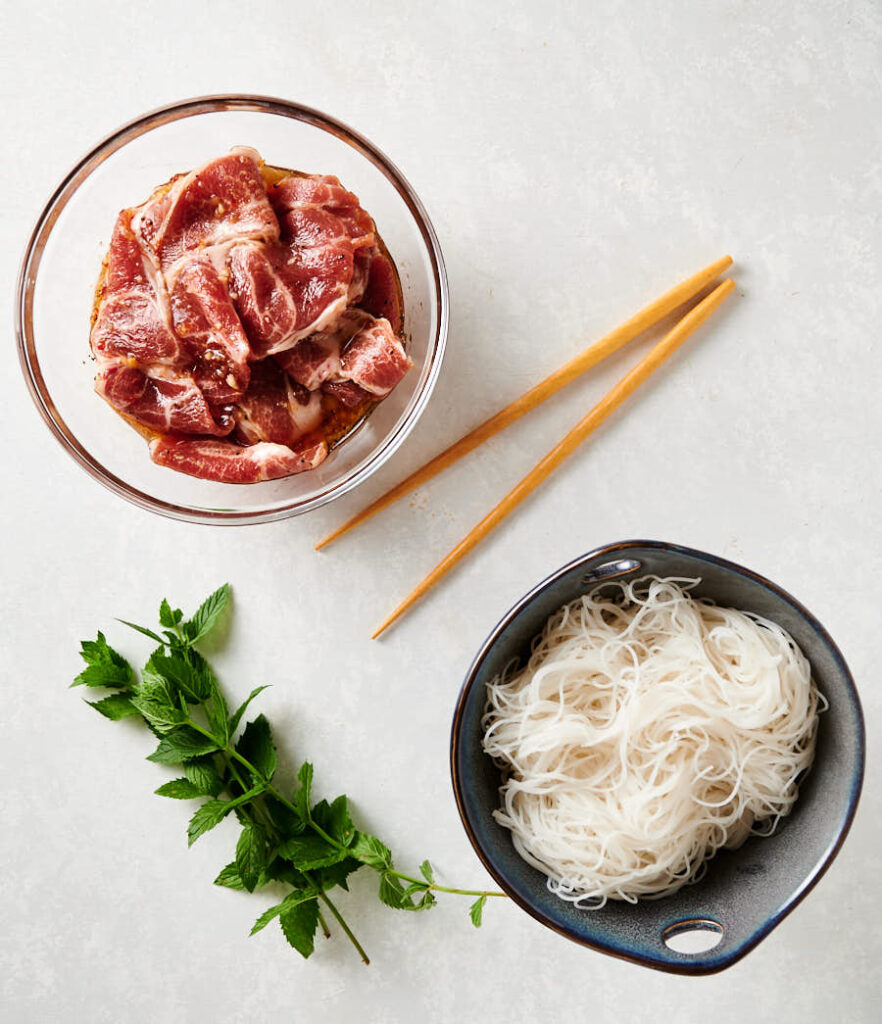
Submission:
[[[230,597],[225,584],[186,620],[164,599],[158,632],[121,620],[158,645],[140,678],[98,633],[95,640],[83,641],[86,668],[72,685],[111,690],[87,703],[113,721],[139,716],[159,740],[148,760],[180,766],[181,777],[156,792],[172,800],[203,800],[187,826],[191,846],[235,814],[241,826],[236,855],[215,885],[247,892],[269,884],[289,887],[281,902],[260,914],[251,934],[278,920],[289,944],[309,956],[318,929],[331,934],[324,908],[364,963],[370,963],[329,895],[333,889],[348,891],[349,876],[363,867],[377,872],[379,899],[396,910],[426,910],[438,892],[476,897],[469,912],[479,927],[488,897],[504,893],[440,886],[427,860],[420,864],[419,878],[397,870],[389,848],[356,828],[345,796],[312,802],[309,762],[301,765],[290,798],[276,785],[278,758],[269,722],[258,715],[240,731],[251,701],[266,687],[253,689],[230,713],[217,677],[196,647],[217,627]]]

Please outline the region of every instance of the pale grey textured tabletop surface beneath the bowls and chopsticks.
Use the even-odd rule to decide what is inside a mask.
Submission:
[[[590,12],[589,12],[590,11]],[[873,2],[660,5],[4,3],[8,303],[41,204],[143,110],[241,89],[365,132],[425,202],[453,322],[428,412],[381,477],[308,519],[167,522],[106,493],[31,407],[7,336],[0,1015],[9,1022],[878,1019],[882,733],[879,354],[882,10]],[[245,140],[244,140],[245,141]],[[330,168],[329,170],[333,170]],[[371,628],[629,365],[590,380],[319,556],[311,543],[723,251],[737,297],[688,350],[380,643]],[[8,305],[7,305],[8,309]],[[640,346],[636,346],[639,349]],[[473,650],[547,571],[624,537],[759,570],[828,626],[864,698],[870,757],[851,837],[746,961],[673,978],[591,953],[513,906],[481,932],[445,900],[347,901],[374,964],[340,939],[307,964],[247,938],[259,898],[209,885],[232,829],[187,852],[152,796],[145,737],[66,691],[76,642],[236,586],[218,656],[263,705],[288,765],[353,795],[403,863],[484,876],[447,767]]]

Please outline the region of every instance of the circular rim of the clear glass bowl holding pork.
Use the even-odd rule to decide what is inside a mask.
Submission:
[[[113,156],[128,142],[146,134],[153,129],[200,114],[228,111],[275,114],[296,121],[303,121],[339,138],[378,168],[393,185],[414,218],[425,244],[426,255],[431,264],[433,284],[437,296],[435,309],[436,327],[434,338],[429,342],[427,354],[429,374],[423,383],[422,389],[416,395],[416,401],[410,413],[397,424],[396,428],[385,438],[383,443],[377,447],[355,472],[350,473],[336,483],[330,484],[323,492],[305,501],[298,499],[292,501],[290,504],[279,505],[270,509],[247,509],[242,511],[235,509],[193,509],[183,505],[165,502],[142,490],[138,490],[107,470],[79,442],[52,401],[40,369],[34,337],[34,291],[37,284],[40,260],[55,222],[79,186],[104,160]],[[61,446],[93,479],[102,483],[115,494],[132,502],[134,505],[171,519],[215,525],[246,525],[249,523],[287,519],[326,505],[328,502],[347,494],[359,483],[362,483],[394,454],[422,415],[440,372],[442,359],[447,344],[449,305],[444,256],[442,255],[437,236],[428,214],[404,174],[402,174],[398,168],[382,151],[342,121],[323,114],[314,108],[274,96],[219,94],[178,100],[142,114],[140,117],[127,122],[106,136],[74,165],[50,196],[28,241],[15,292],[15,337],[25,381],[41,417]]]

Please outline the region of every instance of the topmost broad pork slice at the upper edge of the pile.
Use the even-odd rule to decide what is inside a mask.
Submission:
[[[177,262],[199,249],[279,239],[279,221],[266,198],[260,155],[240,146],[178,178],[145,203],[133,227],[173,284]]]

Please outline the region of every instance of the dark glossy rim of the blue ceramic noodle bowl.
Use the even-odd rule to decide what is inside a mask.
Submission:
[[[654,551],[662,551],[665,553],[673,555],[683,555],[690,558],[696,558],[702,561],[709,562],[719,568],[727,569],[739,575],[742,575],[762,587],[765,587],[771,591],[779,598],[791,605],[791,607],[796,611],[807,625],[817,634],[824,644],[828,647],[833,658],[837,665],[837,668],[842,674],[842,678],[846,683],[846,696],[848,702],[851,705],[854,715],[855,722],[857,724],[856,729],[856,770],[852,778],[851,787],[849,791],[848,806],[845,809],[844,816],[842,818],[839,829],[836,834],[835,839],[831,842],[831,845],[825,854],[825,856],[814,865],[814,868],[802,882],[799,888],[790,895],[785,901],[784,905],[781,906],[774,913],[770,914],[766,920],[763,927],[755,931],[750,935],[744,942],[732,949],[726,956],[710,959],[707,962],[702,962],[700,958],[695,957],[691,961],[683,959],[671,963],[659,963],[654,961],[647,961],[642,955],[635,951],[629,951],[623,949],[619,946],[610,945],[601,941],[594,941],[587,938],[572,928],[568,928],[564,925],[557,924],[556,922],[550,921],[544,913],[542,913],[537,907],[531,904],[528,900],[523,899],[520,895],[513,891],[512,887],[509,885],[508,881],[493,863],[493,858],[488,850],[481,845],[476,831],[472,827],[471,821],[465,810],[465,800],[464,800],[464,781],[460,777],[459,770],[457,768],[457,754],[461,741],[461,732],[463,724],[463,714],[465,710],[465,703],[468,695],[471,691],[472,686],[475,683],[478,671],[485,658],[490,653],[491,649],[496,644],[498,638],[503,633],[503,631],[520,614],[520,612],[533,602],[533,600],[542,593],[547,587],[551,586],[561,577],[566,575],[573,569],[578,568],[581,565],[596,562],[598,559],[616,559],[627,557],[629,552],[634,549],[649,549]],[[612,575],[624,574],[624,573],[612,573]],[[600,586],[602,580],[597,580],[597,585]],[[607,955],[616,956],[620,959],[626,959],[633,964],[639,964],[642,967],[649,967],[655,970],[665,971],[673,974],[687,974],[687,975],[706,975],[714,974],[718,971],[722,971],[725,968],[731,967],[732,964],[740,961],[743,956],[746,956],[752,949],[754,949],[764,938],[768,935],[773,928],[775,928],[795,907],[797,907],[803,899],[808,895],[808,893],[814,888],[818,883],[821,878],[827,871],[830,864],[836,858],[842,844],[845,841],[846,836],[851,827],[851,823],[854,820],[854,814],[857,810],[857,803],[860,798],[860,791],[864,782],[864,767],[866,761],[866,732],[864,725],[864,714],[860,708],[860,700],[857,695],[857,690],[854,686],[854,680],[842,656],[839,648],[834,642],[833,638],[827,632],[827,630],[821,625],[821,623],[815,618],[813,614],[799,601],[796,600],[791,594],[789,594],[782,587],[767,580],[765,577],[760,575],[758,572],[754,572],[751,569],[745,568],[743,565],[739,565],[736,562],[728,561],[725,558],[720,558],[717,555],[708,554],[705,551],[697,551],[694,548],[682,547],[681,545],[668,544],[663,541],[620,541],[617,544],[605,545],[600,548],[595,548],[593,551],[589,551],[587,554],[581,555],[579,558],[575,558],[568,562],[565,565],[561,566],[556,571],[552,572],[549,577],[546,577],[540,584],[534,587],[528,594],[526,594],[497,623],[493,631],[490,633],[488,638],[481,644],[476,656],[474,657],[468,672],[466,673],[465,682],[463,683],[462,689],[460,690],[459,697],[457,698],[456,709],[453,716],[453,724],[451,727],[451,743],[450,743],[450,766],[451,766],[451,778],[453,781],[454,799],[456,800],[457,810],[459,811],[460,819],[462,820],[463,827],[465,828],[466,835],[468,836],[469,842],[471,843],[474,852],[477,854],[484,866],[487,868],[488,872],[496,881],[497,885],[506,893],[522,910],[526,910],[532,918],[538,921],[540,924],[544,925],[546,928],[557,932],[559,935],[564,936],[568,939],[578,943],[579,945],[588,946],[591,949],[596,949],[598,952],[606,953]],[[709,953],[712,954],[712,950]]]

